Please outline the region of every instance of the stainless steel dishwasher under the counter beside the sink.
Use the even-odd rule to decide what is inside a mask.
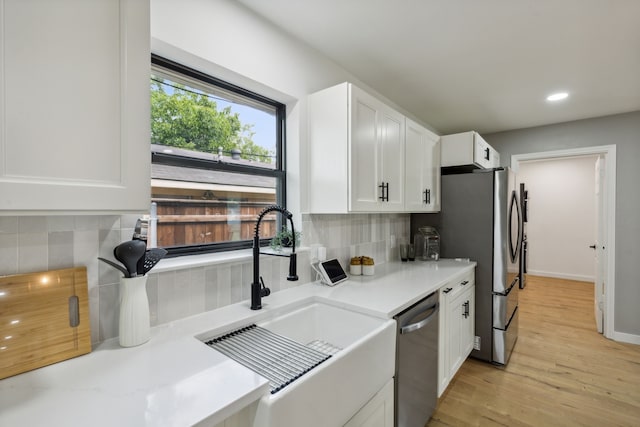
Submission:
[[[396,427],[424,427],[438,399],[438,292],[397,316]]]

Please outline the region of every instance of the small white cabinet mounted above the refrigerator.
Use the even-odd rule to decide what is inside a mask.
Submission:
[[[500,154],[475,131],[442,137],[442,167],[474,165],[488,169],[500,166]]]

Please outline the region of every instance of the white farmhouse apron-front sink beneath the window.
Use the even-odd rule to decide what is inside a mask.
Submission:
[[[272,382],[271,394],[257,405],[253,427],[343,425],[393,377],[396,328],[390,319],[311,302],[261,319],[248,329],[245,343],[235,351],[242,353],[245,344],[251,346],[274,335],[276,340],[291,341],[324,355],[322,361],[286,385],[274,386]],[[272,347],[281,345],[266,342],[260,352],[240,354],[239,358],[258,364],[266,360]],[[294,359],[305,356],[293,354]],[[278,367],[278,371],[286,368]]]

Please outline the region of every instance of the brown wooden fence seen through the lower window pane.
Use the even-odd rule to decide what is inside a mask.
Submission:
[[[250,240],[258,214],[272,203],[229,203],[212,200],[154,199],[157,204],[157,240],[160,247]],[[260,237],[276,233],[276,214],[260,223]]]

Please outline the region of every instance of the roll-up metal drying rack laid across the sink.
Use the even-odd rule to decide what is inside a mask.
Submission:
[[[271,394],[341,350],[321,340],[303,345],[255,324],[205,341],[205,344],[268,379]]]

